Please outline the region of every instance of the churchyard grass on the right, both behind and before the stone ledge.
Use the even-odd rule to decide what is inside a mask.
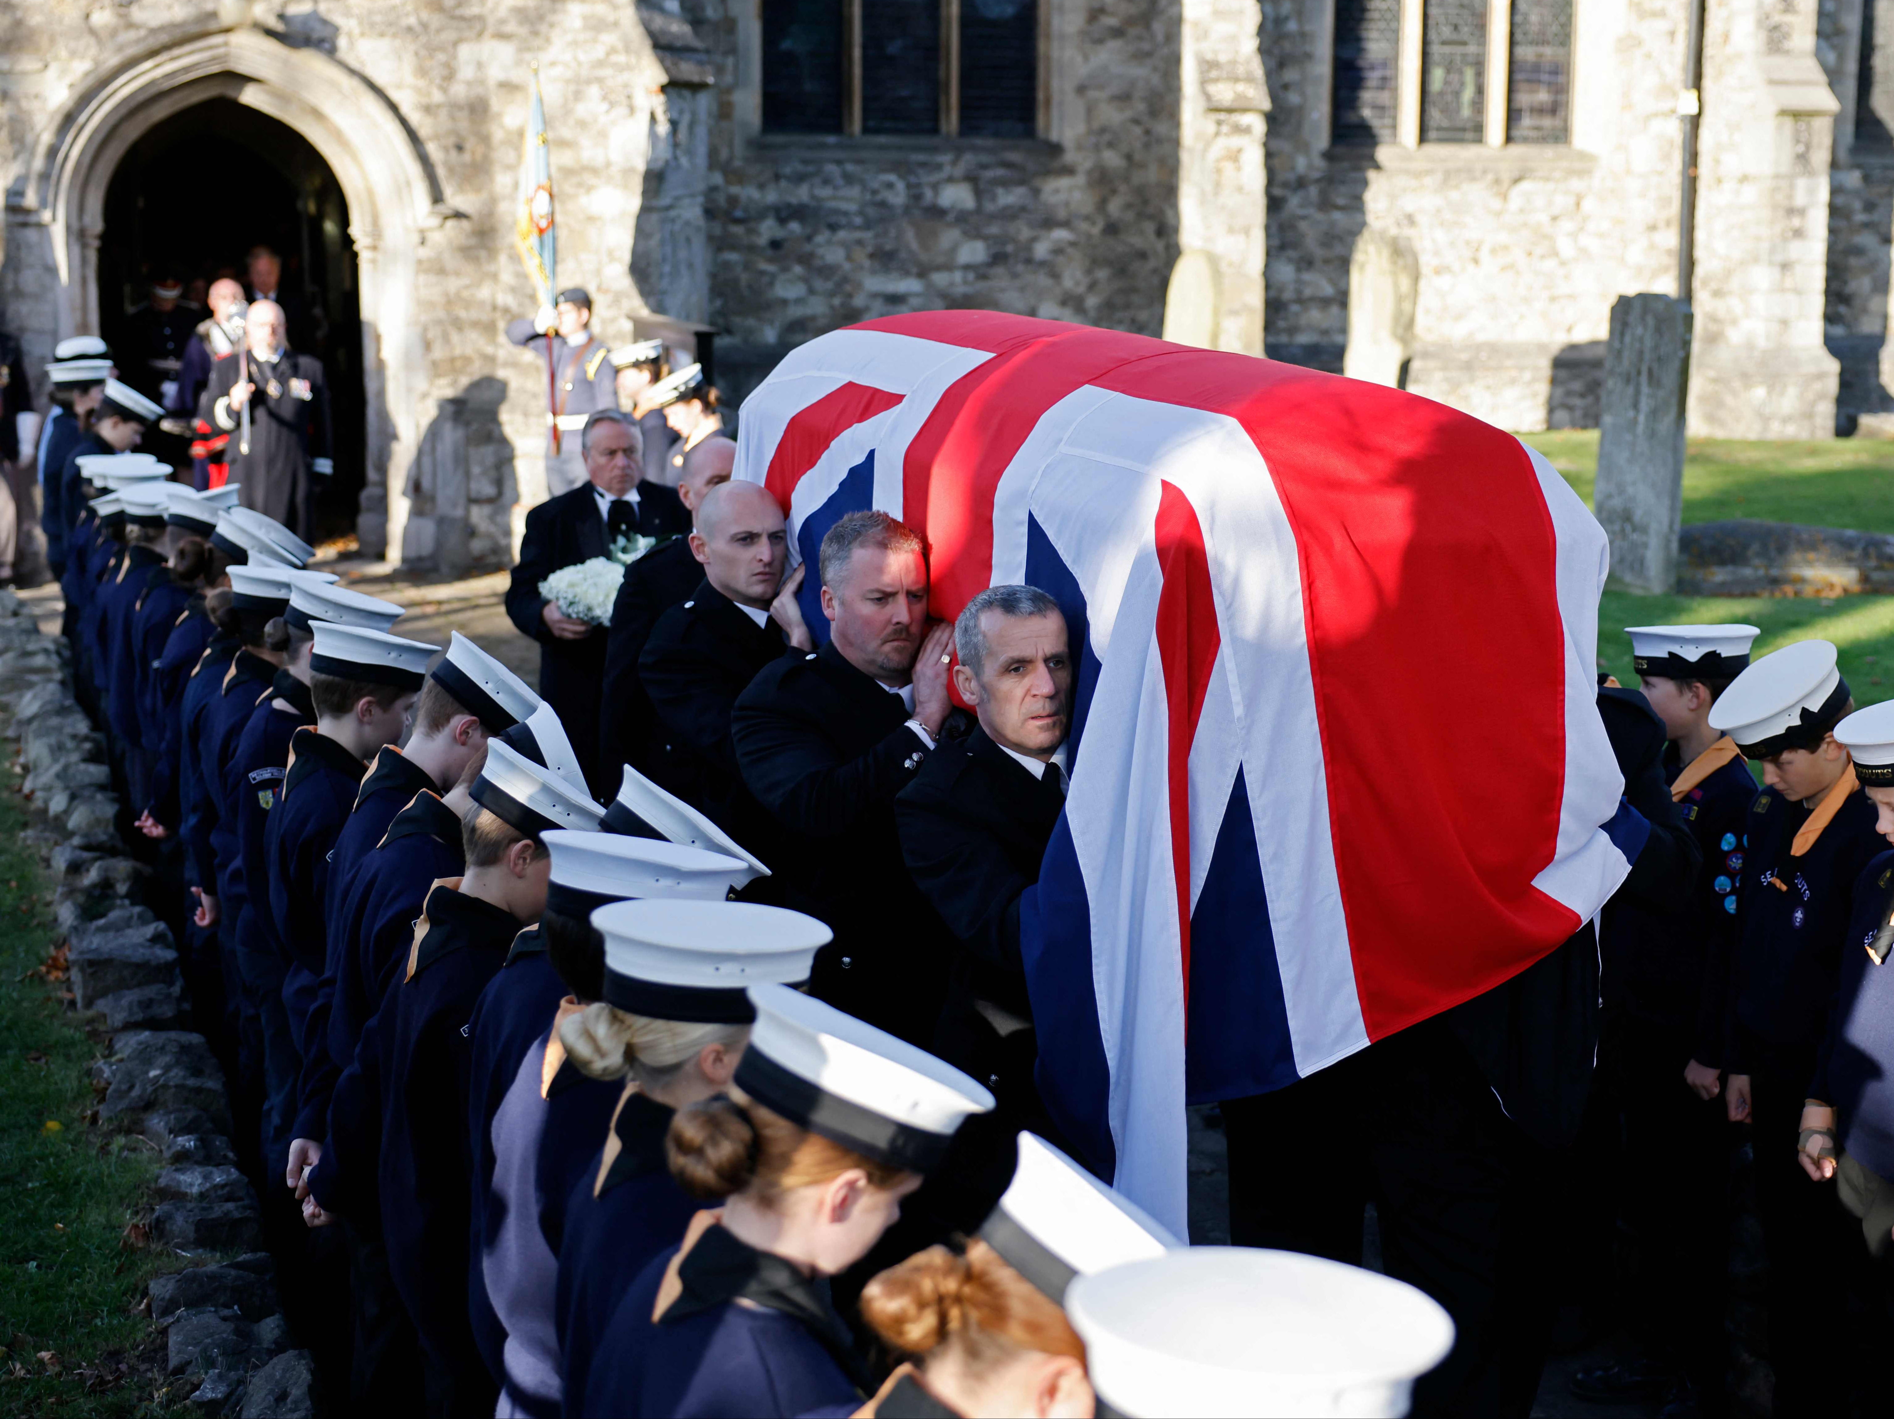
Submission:
[[[1527,434],[1591,504],[1599,430]],[[1684,455],[1684,521],[1758,517],[1771,523],[1894,532],[1894,441],[1818,440],[1742,443],[1693,438]],[[1761,627],[1756,656],[1818,637],[1841,650],[1856,705],[1894,697],[1894,597],[1640,597],[1606,591],[1599,608],[1599,661],[1635,686],[1627,625],[1746,621]]]

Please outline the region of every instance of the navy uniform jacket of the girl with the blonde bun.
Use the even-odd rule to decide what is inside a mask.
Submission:
[[[555,1320],[564,1360],[566,1413],[585,1413],[599,1338],[631,1283],[670,1250],[701,1203],[665,1163],[672,1110],[627,1086],[604,1148],[572,1184],[559,1245]]]

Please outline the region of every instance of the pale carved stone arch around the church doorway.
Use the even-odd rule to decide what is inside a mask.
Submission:
[[[358,527],[366,553],[398,557],[407,523],[402,487],[428,392],[415,318],[417,254],[422,235],[458,212],[441,201],[434,169],[394,104],[350,68],[242,27],[170,38],[81,85],[45,129],[23,193],[27,212],[47,229],[57,273],[51,324],[59,335],[100,332],[100,244],[114,174],[153,129],[214,100],[288,127],[339,188],[360,313]]]

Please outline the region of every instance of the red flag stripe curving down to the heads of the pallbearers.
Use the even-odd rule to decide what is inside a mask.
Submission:
[[[896,333],[932,339],[926,330],[905,326],[932,326],[955,314],[894,316],[871,328],[900,326]],[[1152,352],[1152,341],[1116,330],[1057,320],[1017,324],[1044,333],[1013,341],[949,385],[907,445],[902,466],[902,521],[928,544],[928,610],[943,621],[992,585],[992,498],[1019,445],[1063,398]]]

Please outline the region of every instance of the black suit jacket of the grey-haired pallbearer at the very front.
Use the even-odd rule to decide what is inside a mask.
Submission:
[[[1030,1086],[1032,1006],[1019,962],[1019,898],[1040,879],[1064,794],[983,729],[941,745],[894,799],[902,856],[947,923],[955,953],[936,1053],[974,1078]],[[1015,1038],[1019,1036],[1019,1038]]]

